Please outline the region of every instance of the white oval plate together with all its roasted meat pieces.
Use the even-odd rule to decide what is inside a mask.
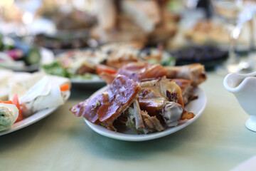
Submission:
[[[193,123],[206,107],[206,95],[198,88],[206,73],[199,63],[169,67],[129,63],[117,73],[100,76],[108,86],[70,111],[110,138],[160,138]]]

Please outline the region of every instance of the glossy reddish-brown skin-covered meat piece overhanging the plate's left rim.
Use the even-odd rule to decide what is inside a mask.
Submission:
[[[114,120],[134,102],[140,87],[126,76],[117,76],[103,93],[88,98],[70,108],[76,116],[114,130]]]

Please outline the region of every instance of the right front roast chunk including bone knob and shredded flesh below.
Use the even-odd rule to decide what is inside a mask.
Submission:
[[[124,111],[126,125],[137,133],[152,133],[191,119],[193,113],[183,108],[181,88],[167,78],[140,81],[138,100]]]

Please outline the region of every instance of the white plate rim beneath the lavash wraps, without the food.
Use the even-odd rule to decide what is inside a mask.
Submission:
[[[69,96],[70,96],[70,92],[68,93],[65,101],[68,100]],[[37,113],[34,113],[33,115],[29,116],[28,118],[25,118],[25,119],[19,121],[18,123],[14,123],[14,125],[12,126],[12,128],[10,130],[6,130],[6,131],[3,131],[3,132],[0,132],[0,136],[8,134],[8,133],[12,133],[12,132],[14,132],[16,130],[20,130],[21,128],[25,128],[28,125],[36,123],[39,120],[41,120],[43,118],[46,118],[46,116],[50,115],[50,113],[53,113],[59,107],[60,106],[54,107],[54,108],[47,108],[47,109],[44,109],[44,110],[40,110]]]

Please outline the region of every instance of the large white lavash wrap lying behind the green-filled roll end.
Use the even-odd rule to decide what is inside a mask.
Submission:
[[[32,78],[32,80],[31,80]],[[63,105],[69,97],[70,91],[60,91],[60,86],[70,81],[68,78],[49,76],[44,73],[36,73],[22,81],[17,81],[11,87],[9,99],[18,94],[21,110],[24,116],[32,115],[39,110]],[[40,78],[38,80],[38,78]],[[37,79],[33,84],[33,79]],[[27,84],[28,83],[28,84]]]

